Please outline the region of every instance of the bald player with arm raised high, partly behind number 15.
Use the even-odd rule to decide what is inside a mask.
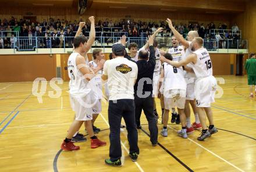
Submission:
[[[187,41],[186,41],[183,38],[183,36],[180,35],[179,32],[177,32],[175,30],[175,28],[172,25],[172,21],[170,19],[167,19],[166,21],[167,21],[170,29],[172,30],[173,35],[175,35],[175,38],[177,39],[177,41],[179,41],[184,46],[184,51],[185,51],[184,58],[186,58],[191,53],[193,53],[193,50],[191,50],[191,41],[193,40],[193,38],[198,36],[197,31],[190,31],[187,34]],[[187,64],[187,67],[191,68],[191,65],[192,64]],[[186,95],[186,104],[185,104],[184,111],[187,116],[187,120],[186,120],[187,133],[193,133],[194,129],[201,128],[201,123],[200,123],[200,120],[198,117],[197,108],[195,106],[195,93],[194,93],[195,74],[194,74],[194,72],[186,72],[185,78],[187,79],[187,95]],[[193,125],[191,125],[191,121],[190,121],[189,104],[191,105],[194,115],[195,115],[195,122],[193,123]]]

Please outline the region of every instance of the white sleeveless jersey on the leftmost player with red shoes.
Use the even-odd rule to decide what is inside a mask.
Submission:
[[[90,91],[88,80],[84,79],[83,74],[77,69],[76,57],[79,53],[72,53],[67,61],[67,71],[69,73],[69,94],[72,97],[84,97]]]

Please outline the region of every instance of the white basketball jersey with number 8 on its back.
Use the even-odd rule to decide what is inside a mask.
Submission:
[[[184,79],[182,67],[176,68],[168,63],[163,63],[164,92],[169,90],[186,90],[187,83]]]

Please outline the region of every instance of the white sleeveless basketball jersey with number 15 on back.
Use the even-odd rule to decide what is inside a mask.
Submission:
[[[193,54],[197,55],[197,63],[193,64],[195,76],[197,78],[204,78],[212,75],[212,61],[207,49],[201,47]]]

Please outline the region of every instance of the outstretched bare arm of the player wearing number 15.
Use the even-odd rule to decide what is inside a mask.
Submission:
[[[172,61],[172,60],[168,60],[167,58],[161,56],[160,57],[160,60],[162,62],[166,62],[170,65],[173,65],[175,67],[182,67],[182,66],[185,66],[186,64],[189,64],[189,63],[197,63],[197,55],[195,54],[190,54],[189,56],[187,56],[187,58],[185,60],[181,60],[181,61]]]

